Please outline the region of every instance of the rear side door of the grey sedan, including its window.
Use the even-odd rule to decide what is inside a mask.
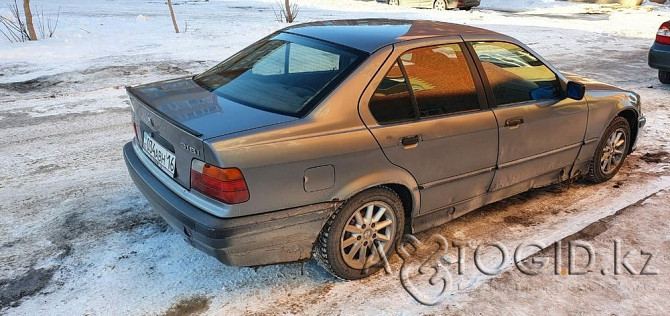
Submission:
[[[420,213],[486,193],[497,123],[462,40],[395,51],[361,109],[369,109],[366,124],[386,157],[419,183]]]

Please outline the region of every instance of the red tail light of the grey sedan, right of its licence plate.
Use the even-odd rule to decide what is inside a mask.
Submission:
[[[249,200],[247,182],[240,169],[219,168],[197,159],[191,163],[191,189],[226,204]]]

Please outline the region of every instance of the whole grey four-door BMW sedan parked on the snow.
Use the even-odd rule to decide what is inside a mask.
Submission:
[[[607,181],[646,122],[634,92],[431,21],[296,25],[127,91],[130,175],[189,243],[233,266],[314,255],[345,279],[377,271],[403,232]]]

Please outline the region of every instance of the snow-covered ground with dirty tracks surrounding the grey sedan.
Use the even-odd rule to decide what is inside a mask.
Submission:
[[[10,2],[0,0],[0,14]],[[658,220],[670,205],[670,87],[646,66],[670,6],[483,0],[471,12],[436,12],[350,0],[299,2],[298,22],[384,17],[492,29],[524,41],[559,69],[642,96],[645,134],[612,181],[534,190],[418,237],[439,233],[449,241],[500,241],[510,249],[573,234],[601,248],[620,239],[652,252],[659,275],[600,275],[594,268],[587,276],[530,277],[509,262],[491,278],[469,262],[463,276],[454,274],[461,290],[428,307],[401,287],[397,258],[394,273],[357,282],[338,281],[311,261],[304,274],[300,264],[226,267],[182,242],[151,210],[121,157],[133,137],[123,86],[202,71],[286,26],[274,21],[273,0],[175,2],[182,30],[188,24],[181,34],[174,33],[163,1],[34,0],[47,14],[60,6],[56,36],[0,40],[0,314],[670,311],[662,296],[670,290],[670,229]],[[591,292],[594,297],[584,294]]]

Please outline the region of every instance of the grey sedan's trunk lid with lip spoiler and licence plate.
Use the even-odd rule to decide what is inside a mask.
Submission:
[[[296,119],[227,100],[191,78],[129,87],[127,92],[146,156],[187,189],[192,160],[206,161],[204,140]]]

